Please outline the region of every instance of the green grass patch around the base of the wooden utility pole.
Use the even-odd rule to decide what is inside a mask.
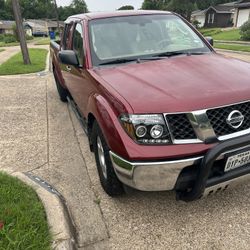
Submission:
[[[31,65],[24,65],[21,52],[0,65],[0,75],[17,75],[39,72],[45,69],[46,49],[29,49]]]

